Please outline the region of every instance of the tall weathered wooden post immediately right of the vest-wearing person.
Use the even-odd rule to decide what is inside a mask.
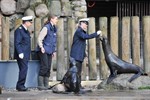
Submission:
[[[64,74],[66,73],[65,66],[65,50],[64,50],[64,21],[62,18],[58,20],[57,23],[57,80],[62,80]]]

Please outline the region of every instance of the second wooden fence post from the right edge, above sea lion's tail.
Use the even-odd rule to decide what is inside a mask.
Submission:
[[[132,63],[140,66],[140,24],[139,17],[132,17]]]

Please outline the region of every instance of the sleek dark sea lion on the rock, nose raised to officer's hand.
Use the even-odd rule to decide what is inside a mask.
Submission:
[[[116,78],[117,74],[134,73],[134,75],[128,80],[129,82],[132,82],[141,75],[147,75],[144,73],[141,67],[132,63],[128,63],[116,56],[112,52],[108,40],[105,36],[100,36],[100,40],[102,42],[106,63],[110,69],[110,75],[108,77],[107,84]]]

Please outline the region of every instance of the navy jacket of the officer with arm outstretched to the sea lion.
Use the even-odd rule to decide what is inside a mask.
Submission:
[[[86,39],[95,38],[97,36],[97,33],[87,34],[81,27],[78,27],[74,33],[70,56],[75,60],[83,61],[86,56]]]

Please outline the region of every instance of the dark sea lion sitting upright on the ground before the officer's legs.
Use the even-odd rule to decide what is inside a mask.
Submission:
[[[52,91],[54,93],[71,93],[84,94],[92,92],[89,89],[80,89],[80,79],[78,76],[78,69],[74,58],[70,57],[70,68],[67,70],[60,83],[53,85]]]

